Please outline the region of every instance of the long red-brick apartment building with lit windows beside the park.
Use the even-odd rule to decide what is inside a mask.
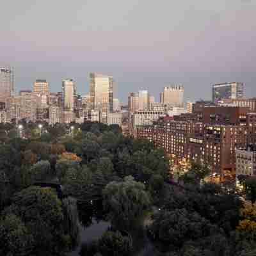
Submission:
[[[186,114],[179,116],[180,120],[177,116],[163,124],[139,126],[136,134],[163,148],[176,162],[186,159],[205,163],[212,172],[224,175],[230,171],[234,175],[236,148],[256,141],[256,113],[248,111],[239,107],[205,107],[204,122],[194,122],[195,113]]]

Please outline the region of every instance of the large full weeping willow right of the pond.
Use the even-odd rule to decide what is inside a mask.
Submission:
[[[117,227],[131,228],[150,204],[145,185],[127,176],[124,182],[110,182],[103,191],[104,208]]]

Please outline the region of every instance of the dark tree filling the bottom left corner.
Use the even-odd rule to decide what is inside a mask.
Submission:
[[[0,255],[30,255],[34,245],[33,236],[18,216],[8,214],[0,220]]]

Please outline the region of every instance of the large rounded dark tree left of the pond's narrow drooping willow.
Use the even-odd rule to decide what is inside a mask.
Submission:
[[[67,250],[61,202],[51,188],[29,187],[13,197],[6,214],[15,214],[35,240],[35,254],[60,255]]]

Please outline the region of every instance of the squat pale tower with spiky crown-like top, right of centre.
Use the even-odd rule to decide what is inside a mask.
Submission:
[[[183,108],[184,86],[166,86],[161,95],[161,103],[170,104],[173,107]]]

